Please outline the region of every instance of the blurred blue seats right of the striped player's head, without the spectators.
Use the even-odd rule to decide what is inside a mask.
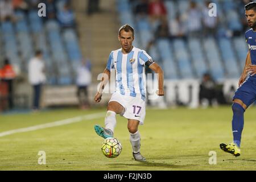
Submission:
[[[152,40],[150,36],[154,35],[156,24],[160,23],[160,19],[152,22],[150,15],[141,17],[138,14],[131,14],[142,1],[118,0],[116,2],[121,24],[135,25],[134,28],[138,35],[137,45],[159,59],[159,64],[165,69],[166,78],[171,80],[201,78],[205,72],[211,73],[217,81],[240,77],[247,53],[243,38],[247,25],[244,24],[242,1],[210,1],[217,5],[218,23],[214,34],[205,35],[203,27],[200,37],[191,36],[187,31],[185,39],[172,36],[166,40],[161,38],[156,40],[150,49],[148,49],[148,44],[151,44]],[[176,16],[180,16],[181,23],[186,26],[190,20],[187,13],[191,1],[166,0],[162,2],[167,9],[165,17],[167,21],[171,22]],[[199,16],[202,16],[207,1],[193,2],[200,10]]]

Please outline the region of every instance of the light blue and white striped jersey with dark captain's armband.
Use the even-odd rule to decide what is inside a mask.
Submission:
[[[112,51],[109,55],[107,69],[115,69],[115,92],[131,97],[146,97],[145,63],[152,58],[139,48],[123,54],[122,49]]]

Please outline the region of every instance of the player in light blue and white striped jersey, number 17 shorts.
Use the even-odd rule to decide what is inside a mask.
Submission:
[[[100,90],[94,101],[101,101],[102,92],[110,78],[110,70],[115,70],[115,92],[108,103],[105,117],[105,127],[95,125],[94,129],[103,138],[113,137],[117,123],[115,115],[120,114],[128,119],[127,128],[130,132],[130,142],[133,148],[133,157],[138,161],[145,161],[141,155],[141,135],[138,126],[143,125],[146,115],[146,75],[145,66],[158,73],[158,96],[164,96],[163,71],[155,61],[139,48],[133,46],[134,29],[125,24],[119,28],[118,40],[121,48],[112,51],[108,64],[101,79]]]

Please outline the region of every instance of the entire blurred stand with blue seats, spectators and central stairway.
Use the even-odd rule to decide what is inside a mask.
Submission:
[[[46,17],[38,14],[42,2]],[[8,59],[15,72],[15,92],[32,94],[24,83],[28,62],[40,50],[46,85],[76,85],[77,67],[86,60],[95,87],[110,51],[120,47],[118,28],[128,23],[135,28],[134,46],[162,66],[166,80],[202,81],[205,73],[218,83],[238,79],[248,51],[244,6],[249,2],[1,0],[0,67]],[[209,16],[210,3],[216,5],[217,16]],[[96,89],[91,90],[92,97]]]

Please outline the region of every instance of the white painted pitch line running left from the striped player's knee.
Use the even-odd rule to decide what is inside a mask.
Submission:
[[[11,135],[11,134],[15,134],[15,133],[24,133],[24,132],[27,132],[27,131],[35,131],[35,130],[40,130],[40,129],[46,129],[48,127],[68,125],[68,124],[80,122],[80,121],[83,121],[83,120],[102,118],[102,117],[105,117],[105,114],[106,113],[81,115],[79,117],[63,119],[63,120],[60,120],[60,121],[46,123],[46,124],[43,124],[43,125],[35,125],[35,126],[24,127],[24,128],[16,129],[16,130],[4,131],[4,132],[0,133],[0,137],[4,137],[6,135]]]

